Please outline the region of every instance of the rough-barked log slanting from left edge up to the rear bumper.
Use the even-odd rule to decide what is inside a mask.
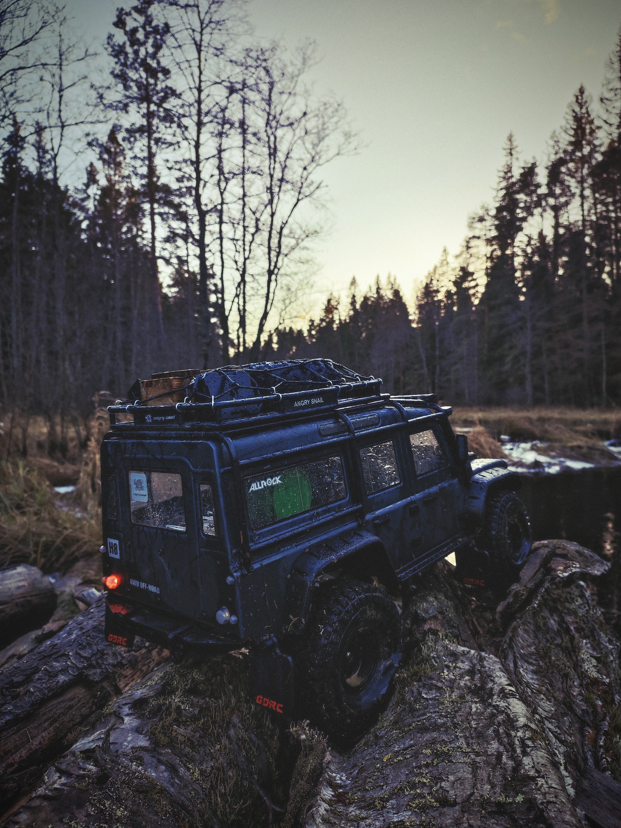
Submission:
[[[0,814],[41,778],[71,731],[168,655],[142,639],[132,650],[106,643],[98,599],[0,672]]]

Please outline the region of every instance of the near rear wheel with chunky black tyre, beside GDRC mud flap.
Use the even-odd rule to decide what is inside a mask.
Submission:
[[[305,707],[320,727],[354,736],[377,712],[401,653],[394,602],[350,580],[325,588],[297,657]]]

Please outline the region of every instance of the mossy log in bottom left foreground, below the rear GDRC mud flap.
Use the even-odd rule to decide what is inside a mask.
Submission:
[[[277,763],[293,763],[249,699],[247,662],[227,654],[158,668],[55,761],[8,825],[272,824],[286,793]]]

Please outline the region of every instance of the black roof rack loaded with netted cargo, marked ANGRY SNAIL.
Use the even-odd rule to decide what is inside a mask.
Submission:
[[[114,425],[116,415],[131,413],[136,425],[161,425],[176,421],[205,421],[220,426],[249,424],[258,418],[295,412],[330,411],[344,404],[362,405],[388,397],[381,394],[381,379],[363,377],[331,359],[287,359],[213,368],[191,377],[185,385],[172,381],[193,372],[167,372],[171,388],[185,389],[185,400],[157,405],[157,397],[171,399],[171,390],[137,399],[134,383],[129,400],[108,407]],[[161,377],[161,374],[159,375]],[[144,388],[147,383],[142,383]],[[163,402],[163,401],[162,401]]]

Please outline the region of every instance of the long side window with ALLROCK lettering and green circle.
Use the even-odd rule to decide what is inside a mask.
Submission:
[[[244,484],[250,521],[256,529],[347,496],[340,457],[247,477]]]

